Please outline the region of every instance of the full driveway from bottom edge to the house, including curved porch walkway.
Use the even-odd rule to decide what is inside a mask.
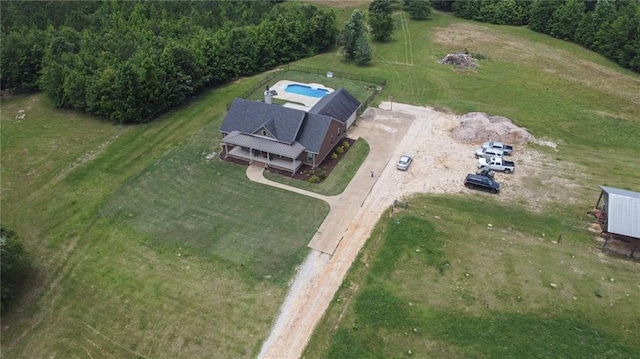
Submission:
[[[388,199],[391,202],[375,201],[368,205],[367,199],[384,176],[385,168],[394,167],[396,147],[413,120],[413,116],[383,109],[365,111],[357,126],[349,130],[349,136],[363,137],[369,143],[369,155],[337,196],[323,196],[267,180],[262,168],[247,169],[247,176],[253,181],[319,198],[330,205],[329,214],[309,242],[312,250],[298,268],[259,358],[299,358],[302,354],[373,225],[393,202]]]

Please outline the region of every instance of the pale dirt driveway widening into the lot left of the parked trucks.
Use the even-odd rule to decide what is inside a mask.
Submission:
[[[391,107],[393,111],[390,111]],[[341,195],[337,201],[339,204],[357,201],[358,205],[332,206],[330,215],[334,215],[327,216],[323,227],[334,228],[333,235],[341,235],[341,240],[333,252],[312,250],[298,269],[259,358],[299,358],[302,355],[353,260],[380,215],[394,200],[417,192],[465,190],[462,179],[466,173],[475,171],[476,146],[453,140],[450,130],[458,123],[457,116],[426,107],[387,102],[379,109],[367,109],[351,135],[362,136],[369,142],[370,155],[345,190],[345,197]],[[385,151],[385,148],[390,150]],[[395,168],[395,160],[403,153],[414,158],[406,172]],[[383,162],[385,166],[381,166]],[[366,178],[370,177],[371,168],[381,171],[374,182]],[[370,183],[367,191],[360,188],[364,179]],[[352,185],[358,190],[350,191]],[[343,229],[345,225],[346,229]]]

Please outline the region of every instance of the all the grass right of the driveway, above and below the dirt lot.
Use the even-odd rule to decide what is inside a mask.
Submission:
[[[381,99],[510,117],[559,144],[535,147],[578,190],[541,213],[481,195],[413,198],[381,219],[305,357],[634,357],[638,266],[599,252],[585,211],[598,184],[640,188],[640,76],[526,29],[396,18],[368,69],[389,79]],[[464,48],[490,60],[473,73],[437,63]]]

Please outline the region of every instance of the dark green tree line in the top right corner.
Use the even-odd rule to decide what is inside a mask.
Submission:
[[[432,0],[434,8],[498,25],[575,42],[640,72],[640,2],[637,0]]]

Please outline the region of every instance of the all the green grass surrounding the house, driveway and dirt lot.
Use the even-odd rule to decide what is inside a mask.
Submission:
[[[640,270],[599,252],[585,212],[599,184],[640,188],[640,76],[526,29],[432,17],[398,14],[371,65],[337,52],[298,64],[386,78],[379,100],[509,117],[558,143],[533,147],[579,169],[557,176],[582,190],[535,213],[485,197],[412,199],[378,225],[307,357],[632,357]],[[477,72],[438,64],[465,48],[488,58]],[[3,357],[257,354],[328,210],[206,159],[226,104],[263,77],[143,126],[55,110],[41,94],[2,99],[2,222],[37,269],[3,313]]]

